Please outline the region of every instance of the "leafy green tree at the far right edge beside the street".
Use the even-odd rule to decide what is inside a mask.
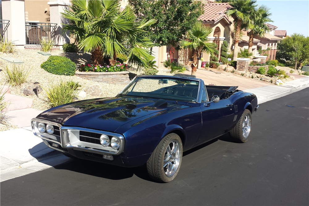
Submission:
[[[282,39],[277,45],[278,56],[276,58],[282,61],[295,61],[301,66],[303,62],[309,60],[309,37],[294,33]]]

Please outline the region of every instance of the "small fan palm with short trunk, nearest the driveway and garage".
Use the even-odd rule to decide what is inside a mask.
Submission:
[[[192,29],[188,31],[189,41],[180,40],[179,45],[182,48],[188,48],[192,51],[193,63],[197,63],[197,55],[201,52],[213,54],[216,49],[215,43],[209,43],[208,35],[212,32],[211,27],[205,27],[201,22],[197,22]],[[195,75],[196,68],[192,69],[192,75]]]

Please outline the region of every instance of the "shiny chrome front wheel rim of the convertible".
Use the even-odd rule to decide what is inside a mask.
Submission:
[[[177,140],[171,141],[164,153],[163,170],[167,177],[172,176],[179,166],[180,143]]]

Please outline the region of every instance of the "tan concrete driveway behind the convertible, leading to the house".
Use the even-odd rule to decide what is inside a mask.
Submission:
[[[220,72],[221,74],[216,74],[210,71],[210,69],[197,69],[195,75],[197,78],[204,80],[206,85],[215,84],[216,86],[238,86],[239,90],[247,90],[260,86],[271,85],[267,82],[262,82],[260,80],[248,77],[242,77],[225,71],[219,71],[217,69],[211,70],[214,72]],[[184,74],[191,74],[191,70],[185,71]]]

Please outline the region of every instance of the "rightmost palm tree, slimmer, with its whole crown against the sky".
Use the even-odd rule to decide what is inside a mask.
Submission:
[[[252,52],[253,35],[264,37],[264,34],[269,32],[269,27],[266,23],[273,22],[269,18],[271,16],[269,10],[270,9],[267,6],[262,5],[258,9],[254,9],[254,12],[251,13],[251,21],[248,24],[248,29],[251,29],[249,32],[249,53]]]

